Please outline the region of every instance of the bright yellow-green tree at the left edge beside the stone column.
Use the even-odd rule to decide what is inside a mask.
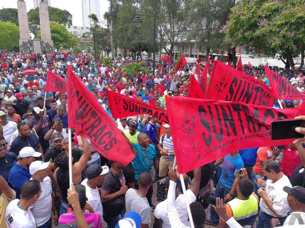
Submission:
[[[0,21],[0,49],[18,50],[19,48],[19,28],[16,24],[8,21]]]

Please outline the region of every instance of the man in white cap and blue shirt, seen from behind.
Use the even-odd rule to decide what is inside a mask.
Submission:
[[[20,199],[20,189],[25,181],[30,180],[30,164],[40,157],[41,153],[36,152],[32,147],[24,147],[19,152],[19,159],[14,161],[14,165],[9,172],[9,185],[16,192],[16,199]]]

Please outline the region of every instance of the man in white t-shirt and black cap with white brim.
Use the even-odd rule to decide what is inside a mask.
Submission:
[[[93,164],[86,170],[86,177],[81,184],[86,187],[86,197],[88,204],[93,208],[95,213],[98,213],[103,218],[103,207],[97,185],[104,182],[105,174],[109,171],[108,166],[100,166]]]

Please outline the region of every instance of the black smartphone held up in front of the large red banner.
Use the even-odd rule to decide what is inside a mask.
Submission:
[[[296,127],[304,126],[304,120],[272,121],[270,127],[271,140],[304,138],[304,134],[295,131]]]

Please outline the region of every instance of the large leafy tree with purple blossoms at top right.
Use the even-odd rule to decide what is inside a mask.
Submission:
[[[303,0],[242,0],[221,31],[231,48],[245,45],[247,51],[279,56],[296,73],[304,64],[304,22]],[[293,57],[299,55],[295,69]]]

